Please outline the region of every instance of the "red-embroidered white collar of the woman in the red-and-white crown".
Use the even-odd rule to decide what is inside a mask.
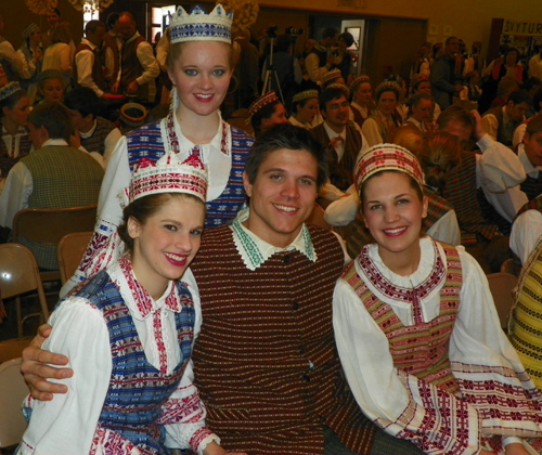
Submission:
[[[127,256],[113,262],[107,268],[107,274],[120,291],[126,306],[139,321],[147,318],[163,308],[176,313],[182,310],[181,299],[178,297],[173,281],[169,282],[162,297],[154,300],[136,280],[131,261]]]

